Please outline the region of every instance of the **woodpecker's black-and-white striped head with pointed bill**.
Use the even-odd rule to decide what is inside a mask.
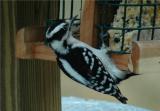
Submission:
[[[45,44],[51,45],[53,42],[64,41],[69,37],[71,32],[71,26],[77,16],[70,20],[58,20],[50,25],[46,30]]]

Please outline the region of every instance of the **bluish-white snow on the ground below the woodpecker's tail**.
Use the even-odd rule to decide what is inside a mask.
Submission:
[[[121,103],[62,97],[62,111],[151,111]]]

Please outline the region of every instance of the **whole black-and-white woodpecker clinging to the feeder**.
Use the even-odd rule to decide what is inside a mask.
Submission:
[[[45,44],[56,54],[58,66],[69,78],[126,104],[128,99],[118,84],[137,74],[117,68],[104,44],[102,48],[94,48],[73,37],[71,27],[76,17],[51,24],[45,32]]]

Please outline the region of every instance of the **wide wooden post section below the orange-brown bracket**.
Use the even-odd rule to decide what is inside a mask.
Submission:
[[[18,63],[18,111],[60,111],[57,63],[34,59],[20,59]]]

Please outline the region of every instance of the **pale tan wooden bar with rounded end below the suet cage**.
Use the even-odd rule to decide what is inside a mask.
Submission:
[[[134,41],[131,60],[133,72],[139,72],[139,62],[141,58],[151,58],[160,56],[160,40]]]

